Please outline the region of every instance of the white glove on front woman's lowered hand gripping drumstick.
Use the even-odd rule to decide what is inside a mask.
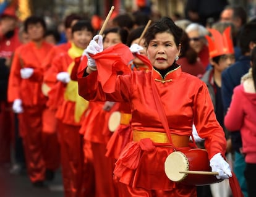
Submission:
[[[210,166],[212,172],[218,172],[219,175],[216,175],[218,179],[225,179],[232,177],[231,169],[228,162],[224,160],[220,153],[215,154],[210,159]]]

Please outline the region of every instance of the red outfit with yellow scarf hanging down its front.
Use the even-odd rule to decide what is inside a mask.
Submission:
[[[49,107],[57,110],[56,118],[59,120],[58,133],[61,144],[62,177],[66,197],[87,196],[86,194],[90,190],[90,188],[87,188],[88,184],[86,182],[88,180],[85,180],[84,176],[87,172],[85,172],[83,165],[83,139],[79,133],[83,121],[83,113],[79,115],[78,119],[75,115],[78,97],[80,97],[77,88],[75,88],[75,83],[77,82],[71,80],[69,83],[64,84],[56,80],[56,75],[59,72],[71,72],[74,66],[75,54],[77,56],[82,55],[82,50],[72,44],[72,47],[67,52],[62,52],[62,54],[53,59],[48,75],[45,77],[46,82],[49,80],[49,82],[56,83],[53,86],[54,92],[51,93],[52,90],[49,92],[49,99],[61,101],[56,106]],[[83,104],[86,105],[87,101],[82,100]],[[86,109],[87,107],[85,107]]]

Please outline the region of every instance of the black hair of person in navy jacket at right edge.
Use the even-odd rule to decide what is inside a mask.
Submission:
[[[250,22],[246,23],[238,35],[238,46],[241,48],[241,52],[244,55],[250,52],[249,44],[250,42],[256,43],[256,23]]]

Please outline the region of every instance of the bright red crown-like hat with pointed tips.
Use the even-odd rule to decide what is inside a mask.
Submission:
[[[220,31],[208,29],[211,37],[206,35],[210,57],[221,56],[224,54],[234,54],[233,40],[231,36],[231,27],[226,28],[221,35]]]

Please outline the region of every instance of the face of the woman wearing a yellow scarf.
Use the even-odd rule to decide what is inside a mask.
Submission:
[[[90,40],[92,40],[93,33],[91,31],[83,29],[80,31],[74,31],[72,36],[75,46],[80,49],[85,49],[90,43]]]

